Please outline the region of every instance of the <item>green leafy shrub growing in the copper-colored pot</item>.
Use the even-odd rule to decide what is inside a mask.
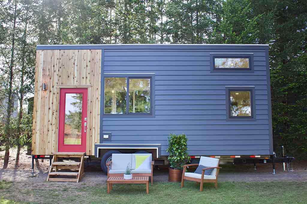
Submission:
[[[166,152],[169,153],[167,158],[172,169],[182,169],[182,166],[190,161],[188,155],[188,138],[182,133],[180,135],[170,134],[168,137],[169,147]]]

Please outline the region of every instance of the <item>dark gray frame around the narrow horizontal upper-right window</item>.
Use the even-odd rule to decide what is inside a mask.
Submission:
[[[248,58],[247,68],[215,68],[215,58]],[[211,72],[254,72],[254,53],[210,53]]]

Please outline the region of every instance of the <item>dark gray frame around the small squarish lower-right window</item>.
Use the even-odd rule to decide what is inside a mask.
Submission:
[[[226,91],[226,120],[227,121],[255,121],[255,87],[254,86],[232,86],[225,87]],[[230,116],[230,91],[250,91],[251,93],[251,116]]]

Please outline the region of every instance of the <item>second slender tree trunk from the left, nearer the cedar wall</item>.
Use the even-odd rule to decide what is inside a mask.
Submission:
[[[21,59],[21,79],[20,79],[20,89],[19,89],[19,94],[20,94],[20,98],[19,98],[19,117],[18,117],[18,123],[17,123],[17,138],[16,138],[16,143],[17,143],[17,155],[16,155],[16,161],[19,160],[19,153],[20,153],[20,136],[21,136],[21,129],[20,129],[20,125],[21,125],[21,121],[22,121],[22,114],[23,114],[23,98],[24,98],[24,90],[23,90],[23,86],[24,86],[24,75],[25,75],[25,46],[27,45],[26,42],[26,36],[27,36],[27,25],[28,25],[28,13],[29,13],[29,5],[27,5],[27,10],[26,10],[26,14],[25,14],[25,30],[23,32],[23,47],[22,47],[22,59]]]

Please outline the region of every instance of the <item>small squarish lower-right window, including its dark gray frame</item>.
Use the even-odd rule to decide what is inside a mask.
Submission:
[[[227,120],[254,120],[254,87],[226,87]]]

